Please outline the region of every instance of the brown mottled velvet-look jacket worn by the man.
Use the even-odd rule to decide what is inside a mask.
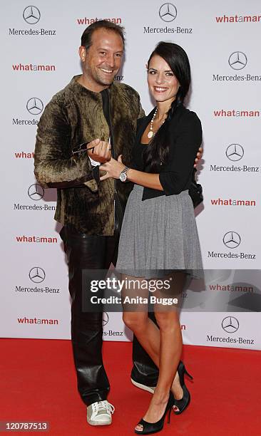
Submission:
[[[109,138],[101,93],[94,93],[73,77],[53,96],[38,124],[34,153],[35,175],[43,187],[57,188],[56,221],[77,232],[111,236],[114,232],[112,179],[97,184],[86,152],[73,155],[73,148],[96,137]],[[108,88],[116,157],[131,163],[136,121],[144,115],[138,93],[124,83]],[[132,185],[116,181],[122,204]]]

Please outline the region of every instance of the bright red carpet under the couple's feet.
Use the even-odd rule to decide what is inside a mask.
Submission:
[[[103,346],[111,381],[113,425],[91,427],[76,391],[70,341],[1,339],[0,420],[48,421],[46,435],[133,435],[150,394],[131,385],[131,343]],[[165,424],[161,435],[261,435],[260,351],[185,346],[188,410]],[[25,432],[15,434],[25,435]],[[29,434],[39,434],[30,432]],[[42,433],[43,434],[43,433]]]

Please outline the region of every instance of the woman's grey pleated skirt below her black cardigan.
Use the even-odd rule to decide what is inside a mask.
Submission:
[[[150,278],[185,270],[200,277],[203,269],[193,202],[188,190],[142,201],[134,185],[123,218],[116,269]]]

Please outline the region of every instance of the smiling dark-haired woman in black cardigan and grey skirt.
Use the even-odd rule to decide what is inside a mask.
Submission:
[[[134,183],[123,219],[116,269],[128,278],[138,278],[140,284],[144,279],[150,284],[151,278],[165,277],[171,288],[157,289],[154,295],[170,296],[171,291],[177,297],[167,309],[157,299],[154,313],[158,327],[140,301],[131,309],[123,306],[124,322],[159,368],[149,408],[135,427],[135,433],[143,435],[162,430],[166,413],[173,406],[176,413],[182,412],[190,400],[184,383],[185,366],[180,362],[182,336],[177,308],[186,276],[202,269],[188,194],[202,130],[198,116],[183,106],[189,86],[190,63],[183,48],[158,43],[148,60],[148,87],[156,107],[138,120],[133,165],[125,167],[121,156],[118,161],[111,159],[101,165],[106,171],[101,180],[113,177]],[[124,301],[125,296],[137,294],[148,296],[148,289],[126,289]]]

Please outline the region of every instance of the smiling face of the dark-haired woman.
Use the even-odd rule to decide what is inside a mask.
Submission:
[[[155,54],[148,65],[148,88],[158,102],[171,104],[178,93],[180,83],[163,58]]]

